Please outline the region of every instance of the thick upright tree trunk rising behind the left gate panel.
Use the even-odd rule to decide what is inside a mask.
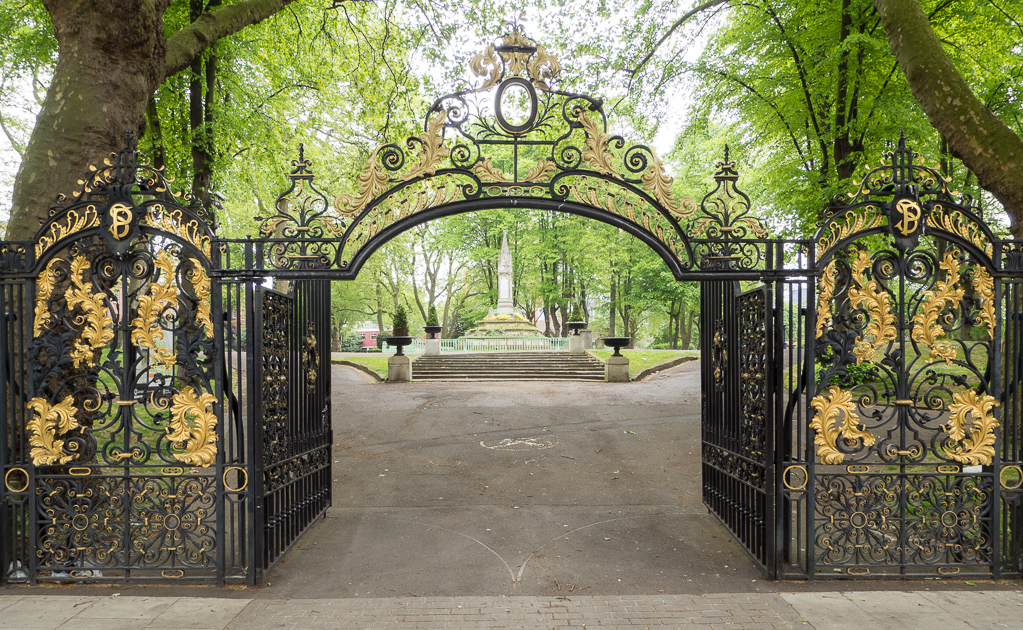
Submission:
[[[88,166],[122,147],[126,131],[141,135],[149,97],[164,80],[165,3],[43,4],[58,57],[14,180],[9,239],[31,238],[56,195],[81,190]]]

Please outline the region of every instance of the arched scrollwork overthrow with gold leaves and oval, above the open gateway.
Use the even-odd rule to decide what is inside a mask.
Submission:
[[[698,217],[694,199],[673,195],[651,147],[608,132],[599,99],[557,88],[561,63],[521,26],[477,54],[470,70],[470,85],[434,101],[421,133],[369,155],[352,192],[328,199],[313,188],[311,163],[300,153],[276,214],[258,218],[270,264],[354,276],[376,248],[415,223],[501,207],[605,221],[644,240],[676,275],[701,267],[691,237],[766,236],[752,217],[737,220],[749,199],[735,189],[727,158],[718,165],[720,202],[704,209],[715,218]]]

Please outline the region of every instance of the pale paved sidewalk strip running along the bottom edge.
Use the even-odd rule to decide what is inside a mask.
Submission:
[[[17,630],[1023,630],[1020,591],[873,591],[584,597],[0,596]]]

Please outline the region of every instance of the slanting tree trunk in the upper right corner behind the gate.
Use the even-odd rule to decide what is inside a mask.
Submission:
[[[1005,207],[1023,236],[1023,139],[994,116],[945,54],[919,0],[874,0],[899,68],[952,154]]]

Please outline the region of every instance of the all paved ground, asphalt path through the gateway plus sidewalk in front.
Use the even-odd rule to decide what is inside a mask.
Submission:
[[[699,376],[386,385],[337,366],[333,507],[267,584],[11,587],[0,629],[1023,630],[1014,581],[765,581],[701,502]]]

